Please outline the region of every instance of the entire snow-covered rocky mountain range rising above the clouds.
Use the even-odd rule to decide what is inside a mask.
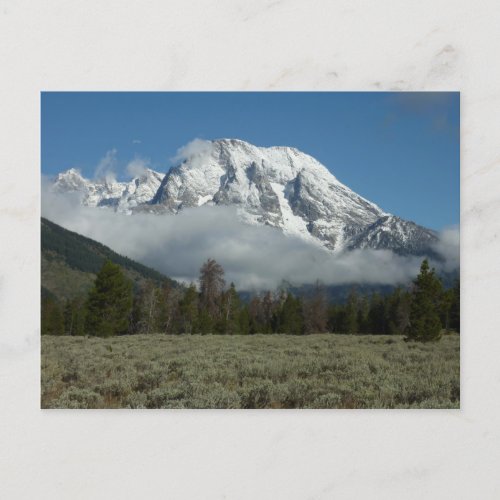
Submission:
[[[231,205],[243,222],[281,229],[329,250],[390,249],[429,253],[437,235],[384,212],[342,184],[313,157],[291,147],[236,139],[206,142],[166,175],[152,170],[128,183],[59,174],[59,192],[83,193],[88,206],[177,214],[206,204]]]

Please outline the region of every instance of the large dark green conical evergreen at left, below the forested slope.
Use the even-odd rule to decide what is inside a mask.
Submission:
[[[132,312],[132,283],[117,264],[106,261],[97,274],[87,298],[85,331],[109,337],[129,331]]]

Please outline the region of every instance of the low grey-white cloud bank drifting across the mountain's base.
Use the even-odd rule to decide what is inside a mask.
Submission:
[[[93,238],[116,252],[174,279],[194,281],[209,257],[241,290],[273,289],[282,280],[295,285],[320,279],[327,285],[406,283],[418,273],[420,257],[385,250],[334,255],[266,226],[242,224],[233,207],[200,207],[178,215],[124,215],[82,207],[77,196],[56,195],[44,186],[42,215]],[[458,228],[444,231],[436,252],[450,271],[458,266]]]

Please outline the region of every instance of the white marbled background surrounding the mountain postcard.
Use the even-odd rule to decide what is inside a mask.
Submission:
[[[1,0],[0,497],[500,498],[499,6]],[[190,89],[462,92],[460,411],[39,409],[40,91]]]

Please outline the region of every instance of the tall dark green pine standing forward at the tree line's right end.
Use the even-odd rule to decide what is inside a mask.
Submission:
[[[420,267],[420,274],[414,281],[410,307],[408,340],[426,342],[437,340],[441,334],[439,304],[442,285],[434,269],[429,268],[425,259]]]

